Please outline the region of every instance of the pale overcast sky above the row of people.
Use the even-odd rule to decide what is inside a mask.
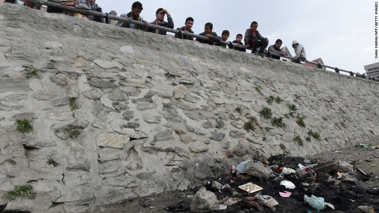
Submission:
[[[97,0],[104,12],[128,13],[134,1]],[[230,31],[229,40],[244,35],[252,21],[258,31],[274,44],[283,40],[293,54],[293,40],[305,47],[307,59],[322,57],[324,63],[348,71],[363,73],[363,66],[375,63],[374,0],[141,0],[141,17],[151,22],[162,7],[172,15],[175,29],[187,17],[195,19],[192,30],[204,31],[206,22],[221,35]],[[167,18],[165,19],[167,20]],[[378,61],[379,62],[379,61]]]

